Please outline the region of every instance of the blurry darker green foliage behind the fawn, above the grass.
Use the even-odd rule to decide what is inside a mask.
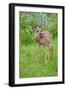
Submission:
[[[33,44],[33,28],[42,26],[43,30],[52,33],[53,39],[57,37],[57,14],[43,12],[20,12],[20,43]]]

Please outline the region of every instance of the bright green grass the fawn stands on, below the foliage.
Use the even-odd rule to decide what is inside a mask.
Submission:
[[[37,60],[37,50],[39,51],[39,60]],[[53,60],[50,58],[48,64],[45,64],[44,61],[44,48],[38,48],[37,45],[20,45],[19,52],[20,78],[57,76],[57,38],[53,41]]]

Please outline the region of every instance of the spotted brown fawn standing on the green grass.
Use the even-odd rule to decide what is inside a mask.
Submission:
[[[39,44],[39,46],[43,46],[45,48],[45,63],[47,64],[49,62],[51,51],[52,51],[51,54],[53,57],[52,34],[48,31],[42,30],[40,26],[34,28],[34,32],[35,32],[36,42]]]

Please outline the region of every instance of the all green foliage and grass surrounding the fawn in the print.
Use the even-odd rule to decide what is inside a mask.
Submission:
[[[58,74],[58,16],[56,13],[20,12],[19,13],[19,77],[44,77]],[[45,48],[39,48],[33,28],[42,26],[43,30],[52,33],[53,36],[53,60],[45,64]],[[39,51],[39,60],[36,51]],[[38,61],[38,62],[37,62]]]

